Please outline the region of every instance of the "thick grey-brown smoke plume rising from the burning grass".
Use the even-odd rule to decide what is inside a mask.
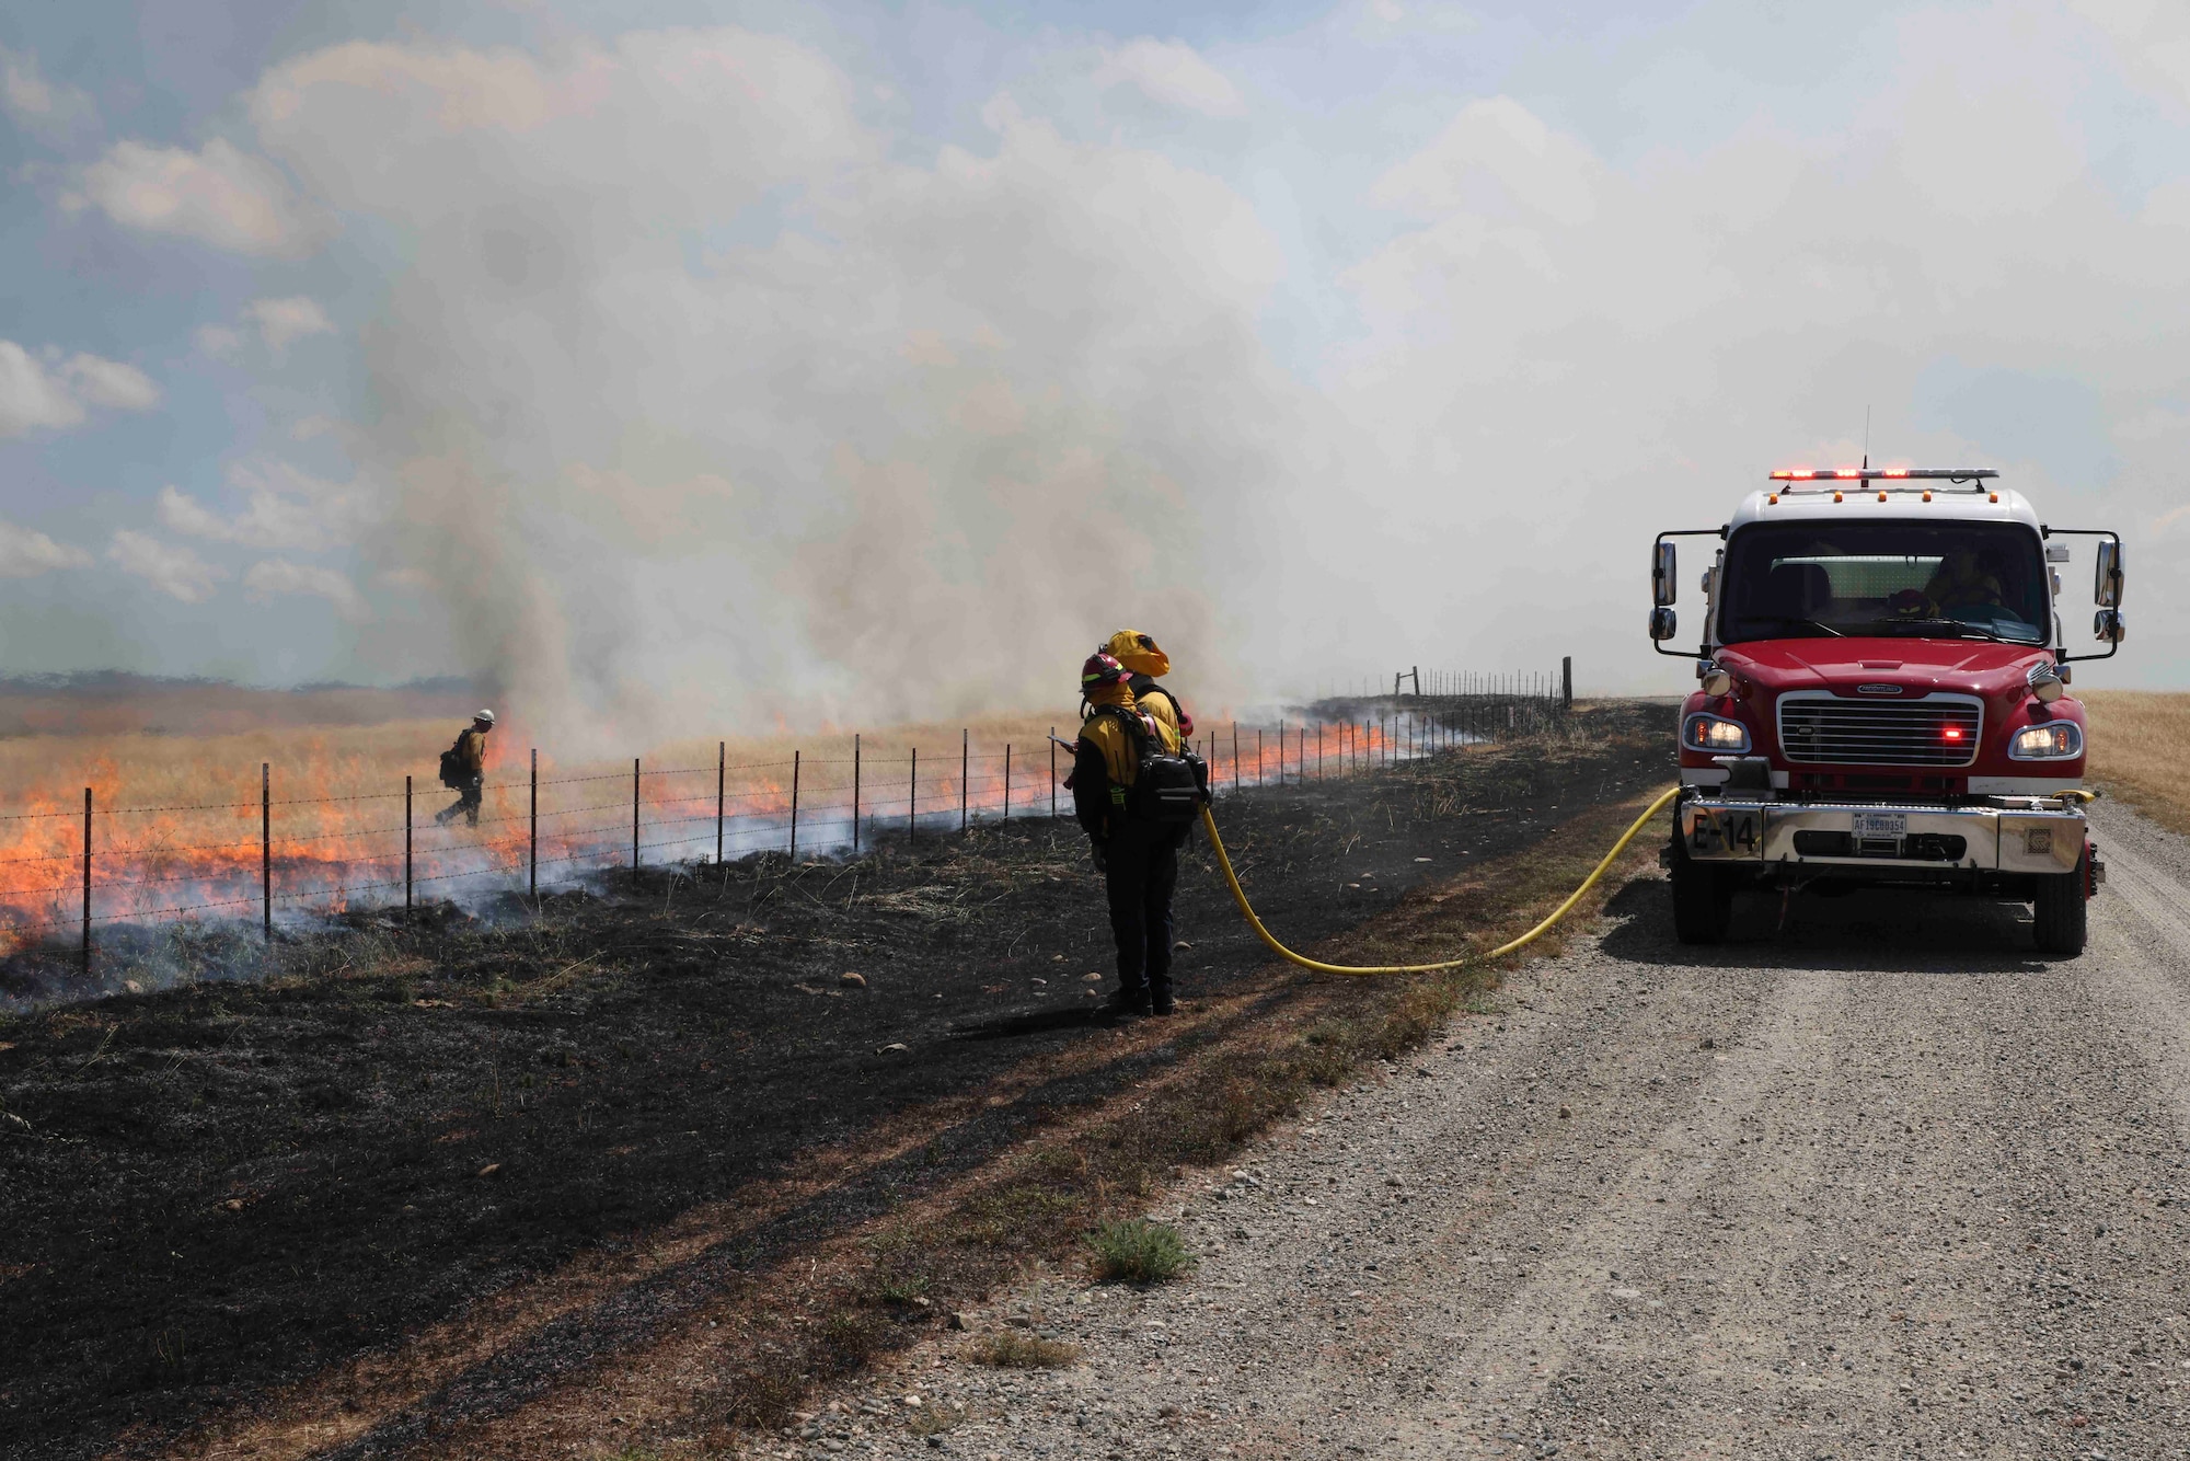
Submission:
[[[734,28],[346,44],[252,116],[405,241],[374,548],[510,694],[629,736],[1069,703],[1128,622],[1224,657],[1250,574],[1211,545],[1305,414],[1224,184],[1010,99],[992,151],[896,158],[834,66]]]

